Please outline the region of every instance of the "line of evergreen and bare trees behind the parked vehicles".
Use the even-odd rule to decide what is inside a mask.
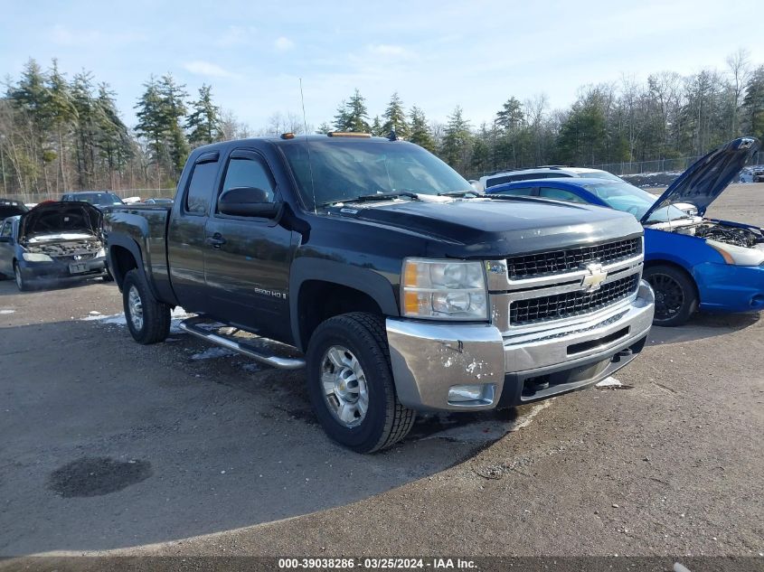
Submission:
[[[538,164],[599,165],[702,155],[735,136],[764,138],[764,65],[740,50],[724,70],[689,76],[665,71],[646,81],[627,77],[586,85],[568,108],[541,94],[506,98],[491,121],[473,125],[457,106],[445,123],[406,108],[393,93],[381,114],[369,113],[358,89],[316,129],[276,113],[257,130],[223,110],[203,85],[193,98],[172,74],[151,76],[127,127],[108,84],[81,71],[67,79],[54,60],[33,60],[5,81],[0,97],[0,194],[55,197],[80,189],[173,187],[198,145],[284,132],[391,131],[427,148],[469,177]]]

